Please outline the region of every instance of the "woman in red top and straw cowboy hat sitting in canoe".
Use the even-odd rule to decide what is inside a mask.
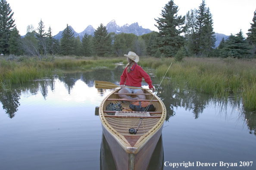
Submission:
[[[145,82],[149,85],[149,88],[155,91],[150,76],[137,64],[139,61],[139,56],[137,56],[134,52],[129,52],[127,57],[128,64],[122,73],[119,93],[134,93],[137,94],[137,97],[131,98],[125,94],[119,94],[120,98],[125,99],[146,99],[146,96],[143,95],[144,92],[141,89],[129,88],[136,87],[141,88],[142,77],[144,78]],[[142,94],[142,95],[138,95]]]

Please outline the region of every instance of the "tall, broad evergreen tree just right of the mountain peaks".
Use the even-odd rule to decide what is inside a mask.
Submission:
[[[178,49],[184,45],[184,37],[180,34],[184,32],[185,16],[178,16],[178,6],[170,0],[162,10],[162,18],[155,19],[159,30],[156,38],[156,51],[161,52],[165,57],[172,57]]]

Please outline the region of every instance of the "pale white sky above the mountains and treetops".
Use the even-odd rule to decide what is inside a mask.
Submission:
[[[38,27],[42,19],[45,30],[51,27],[53,35],[69,24],[77,33],[88,25],[94,29],[116,20],[120,27],[138,22],[139,26],[158,31],[155,18],[169,0],[6,0],[20,35],[26,34],[28,25]],[[186,15],[190,9],[198,9],[202,0],[174,0],[178,15]],[[252,23],[256,0],[205,0],[212,13],[215,33],[236,34],[242,30],[244,35]]]

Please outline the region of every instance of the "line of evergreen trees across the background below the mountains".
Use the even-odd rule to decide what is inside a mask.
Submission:
[[[56,55],[75,56],[123,56],[129,51],[140,56],[184,56],[249,58],[256,55],[256,11],[247,38],[242,30],[231,34],[215,48],[213,19],[205,0],[198,9],[191,9],[185,16],[178,15],[178,6],[170,0],[162,9],[161,17],[155,18],[159,32],[152,31],[141,36],[133,33],[108,33],[100,24],[94,36],[84,34],[75,37],[69,25],[60,40],[54,39],[51,27],[45,30],[41,20],[35,29],[27,27],[24,38],[19,35],[12,18],[13,12],[6,0],[0,0],[0,53],[37,56],[40,60]]]

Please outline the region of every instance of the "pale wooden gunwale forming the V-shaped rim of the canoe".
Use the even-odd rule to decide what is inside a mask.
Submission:
[[[131,147],[131,145],[128,143],[128,141],[125,139],[125,137],[120,134],[119,132],[117,132],[106,120],[106,117],[104,115],[104,103],[106,102],[106,100],[114,93],[117,93],[119,91],[119,89],[116,89],[115,91],[112,91],[112,93],[110,93],[109,95],[107,95],[102,102],[100,103],[100,108],[99,108],[99,115],[100,115],[100,120],[102,123],[102,127],[104,127],[109,134],[117,141],[117,143],[119,143],[119,145],[125,150],[125,152],[127,153],[131,153],[131,154],[136,154],[137,152],[140,151],[141,148],[143,148],[143,146],[146,145],[147,141],[150,140],[151,137],[154,136],[154,134],[156,134],[157,131],[162,130],[162,125],[165,121],[166,118],[166,108],[165,105],[163,104],[162,100],[159,99],[159,97],[155,96],[157,100],[159,100],[159,104],[162,107],[162,115],[161,118],[159,118],[159,121],[156,123],[155,126],[153,126],[153,128],[151,128],[150,131],[148,131],[147,133],[145,133],[144,135],[142,135],[140,137],[140,139],[137,141],[137,143],[135,143],[135,145],[133,147]],[[147,90],[148,91],[148,90]],[[152,94],[151,91],[148,91],[148,93]],[[153,94],[152,94],[153,95]],[[106,114],[106,113],[105,113]]]

